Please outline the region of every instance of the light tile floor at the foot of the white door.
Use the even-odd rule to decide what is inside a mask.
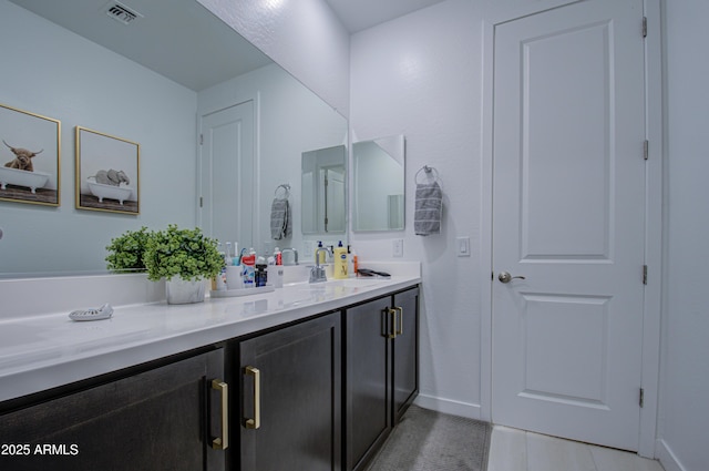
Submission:
[[[664,471],[635,453],[495,426],[487,471]]]

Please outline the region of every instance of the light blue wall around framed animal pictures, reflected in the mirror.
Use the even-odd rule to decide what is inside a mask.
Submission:
[[[61,206],[0,202],[0,276],[102,270],[126,229],[194,226],[195,92],[7,0],[0,57],[0,103],[61,121]],[[138,216],[75,208],[76,125],[141,144]]]

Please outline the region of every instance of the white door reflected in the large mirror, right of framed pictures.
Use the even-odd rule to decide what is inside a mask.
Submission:
[[[209,237],[254,247],[254,102],[202,116],[198,224]]]

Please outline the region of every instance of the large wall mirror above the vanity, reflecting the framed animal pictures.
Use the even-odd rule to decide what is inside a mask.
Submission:
[[[220,195],[245,181],[253,218],[244,244],[300,248],[301,153],[346,143],[347,120],[197,0],[131,0],[133,20],[112,17],[107,7],[0,0],[3,60],[39,66],[29,75],[0,74],[0,103],[62,126],[60,206],[0,202],[0,278],[103,274],[112,237],[141,226],[201,225],[207,192]],[[198,182],[196,119],[244,102],[253,104],[257,130],[253,171]],[[75,208],[75,126],[141,144],[140,215]],[[291,187],[292,237],[276,242],[269,212],[282,183]],[[228,221],[235,211],[236,202],[226,201],[210,217]]]

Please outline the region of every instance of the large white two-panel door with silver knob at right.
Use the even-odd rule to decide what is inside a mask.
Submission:
[[[641,0],[590,0],[501,24],[494,40],[493,421],[627,450],[639,442],[641,20]]]

